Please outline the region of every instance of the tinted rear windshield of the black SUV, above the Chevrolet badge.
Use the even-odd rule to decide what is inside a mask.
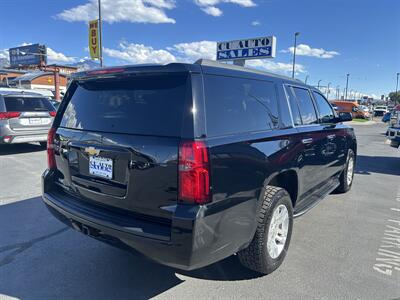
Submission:
[[[180,136],[187,74],[78,83],[60,126],[88,131]]]

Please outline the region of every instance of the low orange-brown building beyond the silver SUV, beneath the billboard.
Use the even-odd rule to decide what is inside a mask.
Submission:
[[[9,85],[24,89],[42,89],[55,91],[54,72],[31,72],[25,73],[9,81]],[[59,74],[59,88],[60,92],[67,89],[67,75]]]

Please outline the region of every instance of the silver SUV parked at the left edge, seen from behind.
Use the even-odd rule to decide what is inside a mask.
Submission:
[[[0,144],[39,142],[45,147],[55,115],[40,94],[0,91]]]

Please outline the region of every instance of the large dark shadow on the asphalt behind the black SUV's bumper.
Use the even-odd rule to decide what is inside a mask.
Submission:
[[[177,276],[178,274],[178,276]],[[148,299],[187,277],[259,277],[236,256],[180,271],[88,238],[60,223],[40,197],[0,206],[0,298]]]

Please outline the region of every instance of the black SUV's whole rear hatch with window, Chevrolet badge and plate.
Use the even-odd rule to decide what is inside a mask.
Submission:
[[[188,73],[74,81],[60,110],[57,185],[90,205],[170,222]]]

